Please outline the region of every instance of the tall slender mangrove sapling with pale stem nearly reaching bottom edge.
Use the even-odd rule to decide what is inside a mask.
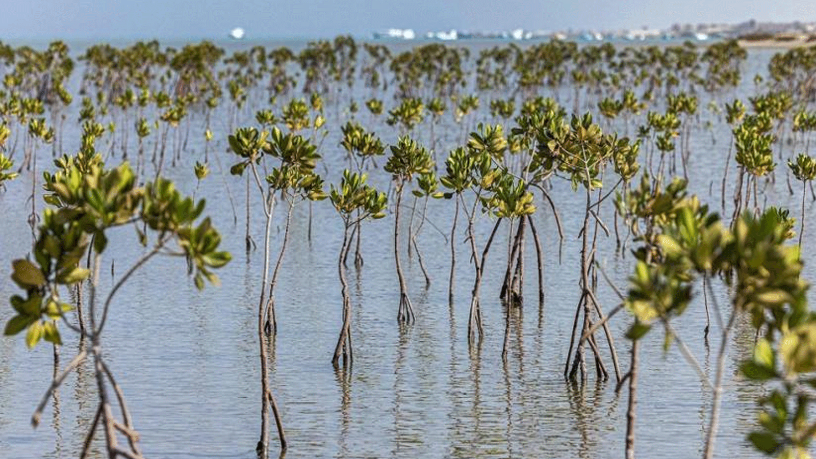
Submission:
[[[258,174],[257,164],[261,160],[263,149],[266,146],[268,132],[258,131],[254,127],[239,128],[234,135],[229,136],[229,146],[233,153],[242,158],[240,163],[236,163],[230,168],[233,175],[242,175],[246,167],[250,167],[251,176],[255,178],[255,185],[263,199],[264,216],[266,225],[264,226],[264,268],[261,273],[261,288],[258,301],[258,343],[260,359],[260,385],[261,385],[261,431],[260,439],[255,450],[260,457],[268,457],[269,448],[269,408],[272,408],[277,426],[278,439],[281,442],[281,449],[286,450],[286,434],[284,434],[282,421],[277,412],[277,403],[269,389],[269,369],[268,369],[268,344],[264,337],[265,310],[267,305],[266,284],[269,275],[269,242],[272,228],[272,218],[275,210],[275,196],[272,190],[266,190],[261,184]]]

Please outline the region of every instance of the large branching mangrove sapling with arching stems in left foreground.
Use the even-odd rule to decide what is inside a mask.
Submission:
[[[91,439],[95,430],[101,428],[109,457],[141,458],[142,453],[136,443],[139,434],[134,429],[122,390],[102,350],[104,326],[113,298],[131,275],[153,256],[184,256],[188,262],[188,272],[193,275],[199,289],[204,287],[205,279],[218,283],[211,270],[228,263],[230,256],[227,252],[217,251],[220,234],[212,227],[209,218],[194,225],[204,209],[203,201],[194,203],[190,198],[182,198],[168,180],[160,179],[139,187],[135,185],[135,176],[126,163],[106,170],[101,165],[99,155],[95,155],[95,161],[86,170],[81,170],[81,164],[82,161],[66,162],[66,167],[48,176],[45,187],[47,202],[55,205],[56,209],[46,208],[43,211],[42,225],[33,247],[33,260],[20,259],[12,263],[14,273],[11,278],[25,291],[25,297],[11,296],[16,315],[7,323],[5,334],[16,335],[27,330],[25,340],[29,347],[41,340],[60,344],[56,321],[61,320],[66,327],[88,339],[91,343],[90,354],[94,359],[99,408],[87,438]],[[150,234],[155,234],[155,240],[150,244],[152,247],[113,284],[103,304],[99,277],[101,257],[108,247],[109,234],[133,223],[149,229]],[[137,231],[140,243],[148,247],[149,234]],[[178,248],[172,249],[173,245]],[[91,255],[90,269],[80,267],[86,252]],[[65,292],[89,277],[91,323],[83,331],[69,322],[65,313],[71,306],[61,298]],[[47,399],[88,355],[89,352],[81,347],[63,372],[54,378],[33,413],[33,426],[38,426]],[[109,390],[116,394],[122,421],[113,415],[114,402]],[[129,447],[119,443],[118,434],[126,437]],[[86,441],[81,457],[85,456],[90,443]]]

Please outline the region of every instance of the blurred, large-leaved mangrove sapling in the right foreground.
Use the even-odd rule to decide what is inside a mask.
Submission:
[[[782,390],[773,390],[770,399],[763,399],[765,407],[777,408],[765,410],[760,417],[765,420],[761,422],[764,430],[749,434],[748,439],[769,454],[779,452],[780,457],[805,457],[800,456],[805,443],[798,435],[803,428],[812,432],[813,425],[805,422],[807,409],[803,409],[812,396],[798,393],[799,411],[790,420],[791,430],[786,426],[787,410],[779,408],[786,407],[786,398],[796,393],[793,389],[800,384],[798,373],[814,369],[812,357],[801,359],[812,355],[809,353],[814,341],[812,332],[807,331],[813,329],[813,319],[805,312],[807,284],[800,279],[799,247],[785,245],[791,234],[780,224],[778,212],[765,212],[759,217],[744,212],[734,222],[734,230],[725,228],[719,217],[709,214],[707,207],[700,206],[696,198],[685,200],[670,212],[673,216],[660,220],[661,234],[654,239],[654,246],[640,251],[641,256],[654,253],[654,260],[659,262],[647,263],[641,259],[630,278],[627,305],[637,320],[629,336],[638,339],[649,332],[654,323],[662,323],[667,331],[667,343],[676,339],[669,321],[683,314],[689,305],[695,278],[703,275],[715,279],[716,274],[730,272],[723,277],[731,292],[727,321],[721,317],[716,296],[712,295],[722,336],[711,384],[711,414],[703,457],[710,459],[713,455],[730,331],[738,314],[746,313],[750,314],[757,334],[764,332],[764,336],[757,340],[753,359],[744,363],[740,372],[754,381],[786,381],[781,385]],[[761,292],[756,291],[756,285],[762,285]],[[711,288],[710,283],[708,287]],[[771,345],[776,336],[782,337],[781,370]],[[791,432],[790,436],[787,432]]]

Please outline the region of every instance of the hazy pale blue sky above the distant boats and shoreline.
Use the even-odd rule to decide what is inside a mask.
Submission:
[[[813,0],[0,0],[0,40],[367,37],[375,30],[664,29],[816,21]]]

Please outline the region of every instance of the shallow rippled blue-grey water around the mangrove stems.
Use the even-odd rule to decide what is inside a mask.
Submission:
[[[764,69],[769,52],[751,52],[743,71],[746,82],[734,94],[753,91],[752,75]],[[570,93],[569,88],[566,93]],[[734,94],[723,100],[730,100]],[[704,110],[706,104],[707,100],[699,104],[703,118],[709,116]],[[75,102],[73,109],[77,105]],[[489,117],[486,105],[483,97],[478,118]],[[318,167],[318,171],[326,172],[327,183],[336,183],[345,160],[338,145],[341,122],[330,106],[330,136],[321,149],[326,170]],[[368,119],[367,115],[359,116]],[[69,119],[75,118],[71,115]],[[217,155],[226,171],[232,161],[230,154],[224,153],[226,123],[217,116],[214,119],[216,140],[211,155]],[[192,164],[202,158],[201,123],[201,117],[195,118],[184,164],[167,170],[167,175],[187,193],[193,193],[197,186]],[[242,124],[252,123],[245,115]],[[366,123],[376,127],[384,141],[396,141],[396,131],[384,126],[382,119]],[[77,127],[72,123],[65,126],[64,145],[73,151],[78,142]],[[442,143],[450,144],[441,148],[443,157],[459,136],[459,127],[449,125],[442,136]],[[716,136],[714,144],[712,136]],[[420,137],[427,141],[426,134]],[[134,138],[131,136],[131,140]],[[729,142],[730,132],[722,122],[715,123],[713,135],[698,127],[691,142],[691,188],[714,208],[719,208],[719,182]],[[42,148],[40,158],[50,158],[50,152],[50,147]],[[789,154],[786,146],[786,158]],[[384,161],[378,163],[382,166]],[[778,167],[783,170],[783,163]],[[731,174],[733,177],[733,168]],[[381,169],[371,171],[370,176],[375,185],[388,189],[389,177]],[[30,211],[30,203],[26,202],[30,180],[23,174],[0,192],[2,298],[16,292],[7,281],[11,260],[24,256],[31,242],[25,221]],[[224,196],[224,183],[237,205],[237,224],[230,200]],[[224,249],[233,252],[233,261],[218,272],[221,287],[197,292],[191,279],[185,277],[183,261],[157,258],[126,284],[113,303],[104,350],[125,391],[145,457],[255,457],[259,429],[255,319],[262,255],[260,248],[250,256],[244,252],[244,193],[242,179],[228,175],[222,178],[220,166],[211,156],[211,176],[202,181],[197,196],[207,199],[205,213],[213,217],[224,235]],[[781,180],[765,194],[768,203],[798,209],[798,194],[789,196]],[[278,281],[279,331],[271,366],[271,387],[290,442],[286,457],[623,456],[626,391],[616,395],[614,382],[596,382],[594,372],[590,372],[586,385],[565,382],[562,376],[579,299],[580,240],[574,235],[583,215],[574,209],[583,208],[583,197],[562,181],[556,182],[552,196],[567,234],[563,260],[558,262],[557,226],[552,213],[539,203],[534,218],[543,238],[546,297],[539,307],[533,272],[535,252],[529,244],[526,303],[522,310],[512,313],[506,363],[501,359],[504,312],[498,292],[506,265],[507,230],[503,227],[497,234],[482,287],[485,340],[476,349],[469,349],[472,265],[468,264],[463,233],[457,239],[453,309],[447,301],[450,259],[446,238],[430,225],[425,226],[420,238],[432,277],[428,289],[424,288],[416,257],[403,256],[417,319],[413,326],[399,328],[399,289],[392,259],[393,216],[366,222],[366,263],[359,272],[353,267],[349,270],[355,359],[346,373],[337,373],[330,365],[341,320],[336,257],[342,242],[342,223],[330,203],[316,203],[313,236],[308,241],[308,204],[299,205]],[[251,231],[255,241],[261,241],[263,214],[254,194],[251,202],[255,211]],[[38,200],[37,207],[38,211],[42,209],[42,201]],[[808,207],[812,214],[810,202]],[[610,211],[611,207],[605,209],[606,221],[611,221]],[[277,207],[276,214],[273,256],[277,256],[282,236],[284,208]],[[446,234],[452,216],[450,201],[428,204],[429,221]],[[490,219],[479,221],[480,247],[491,227]],[[464,228],[462,221],[459,228]],[[806,238],[814,238],[814,231]],[[805,242],[805,247],[814,246]],[[615,254],[614,237],[602,237],[599,247],[599,261],[614,283],[625,287],[632,256]],[[140,253],[133,230],[114,232],[105,253],[102,288],[109,286],[112,278],[118,279]],[[805,256],[810,261],[816,254],[811,248]],[[813,274],[812,265],[806,264],[806,278],[813,279]],[[718,294],[719,301],[725,301],[725,294],[719,290]],[[618,302],[604,283],[599,287],[599,298],[605,310]],[[10,307],[0,308],[0,323],[6,323],[11,312]],[[629,322],[625,314],[611,322],[624,372],[628,367],[628,341],[623,332]],[[717,328],[712,326],[715,332],[706,345],[705,323],[703,301],[697,298],[676,327],[712,377],[719,341]],[[60,350],[63,365],[78,350],[70,332],[64,331],[64,339]],[[752,339],[746,323],[738,327],[729,343],[716,457],[760,457],[745,435],[754,426],[756,394],[763,389],[742,381],[737,373],[739,359],[750,351]],[[607,354],[605,341],[599,343]],[[676,347],[664,352],[661,333],[650,334],[641,349],[636,455],[658,459],[698,456],[703,449],[710,392]],[[610,359],[605,363],[612,373]],[[78,454],[96,408],[91,364],[85,363],[65,381],[58,397],[49,403],[42,425],[33,430],[30,414],[50,384],[52,371],[50,345],[27,350],[20,337],[0,339],[0,457],[61,458]],[[274,432],[272,437],[274,452]],[[102,457],[102,447],[99,434],[91,457]]]

